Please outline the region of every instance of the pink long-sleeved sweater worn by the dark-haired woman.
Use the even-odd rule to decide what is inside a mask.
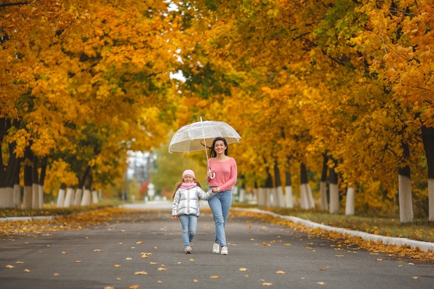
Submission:
[[[209,168],[211,172],[216,173],[214,179],[207,177],[209,186],[218,186],[220,191],[232,190],[236,183],[237,171],[236,162],[233,157],[229,157],[227,161],[216,161],[216,159],[209,159]]]

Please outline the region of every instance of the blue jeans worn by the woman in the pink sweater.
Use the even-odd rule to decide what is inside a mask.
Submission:
[[[216,235],[214,242],[221,246],[226,246],[225,226],[227,215],[232,205],[232,191],[223,191],[216,193],[213,198],[208,200],[209,207],[212,211],[214,223],[216,225]]]

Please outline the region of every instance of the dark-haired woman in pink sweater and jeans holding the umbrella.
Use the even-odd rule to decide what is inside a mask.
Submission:
[[[214,139],[210,154],[207,181],[214,198],[209,199],[208,204],[216,225],[212,252],[227,255],[225,226],[232,205],[232,188],[237,177],[236,162],[233,157],[227,156],[227,142],[223,137]]]

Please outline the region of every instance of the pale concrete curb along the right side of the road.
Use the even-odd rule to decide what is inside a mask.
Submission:
[[[281,218],[284,220],[289,220],[291,222],[295,222],[297,224],[304,225],[305,227],[310,227],[313,229],[318,228],[318,229],[323,229],[325,231],[336,231],[340,234],[349,235],[349,236],[353,236],[353,237],[359,237],[359,238],[362,238],[363,240],[381,242],[384,245],[397,245],[397,246],[401,246],[401,247],[408,246],[412,249],[420,249],[421,251],[424,251],[424,252],[434,251],[434,243],[430,243],[430,242],[424,242],[424,241],[419,241],[419,240],[410,240],[408,238],[385,237],[385,236],[365,233],[362,231],[354,231],[354,230],[349,230],[349,229],[336,228],[336,227],[318,224],[317,222],[311,222],[309,220],[304,220],[304,219],[293,217],[293,216],[281,216],[281,215],[278,215],[277,213],[272,213],[269,211],[262,211],[259,209],[242,209],[242,208],[232,208],[232,209],[234,211],[252,211],[255,213],[263,213],[266,215],[273,216],[275,218]]]

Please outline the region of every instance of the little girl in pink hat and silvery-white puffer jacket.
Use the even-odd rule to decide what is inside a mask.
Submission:
[[[195,179],[193,170],[184,170],[182,180],[175,185],[172,196],[172,216],[175,220],[181,221],[185,254],[193,252],[191,241],[198,227],[199,200],[209,200],[213,196],[211,191],[205,192],[202,189],[202,186]]]

